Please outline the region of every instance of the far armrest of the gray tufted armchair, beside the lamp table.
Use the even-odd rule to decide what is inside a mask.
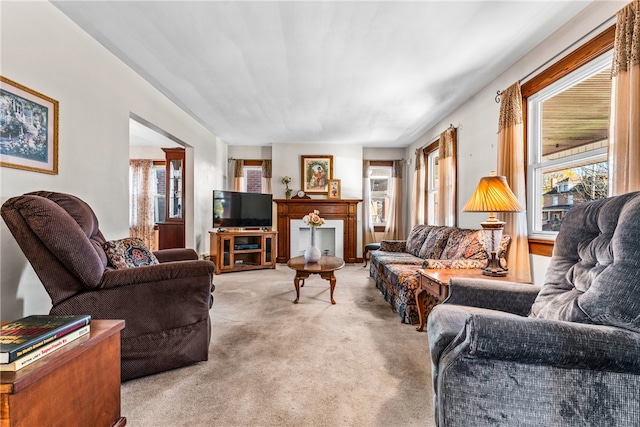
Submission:
[[[467,305],[527,316],[538,292],[539,285],[452,277],[445,304]]]

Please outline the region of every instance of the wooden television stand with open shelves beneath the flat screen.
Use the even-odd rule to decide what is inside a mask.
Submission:
[[[216,273],[276,268],[277,231],[210,231]]]

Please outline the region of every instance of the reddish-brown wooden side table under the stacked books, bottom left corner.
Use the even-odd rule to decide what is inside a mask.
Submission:
[[[79,338],[16,372],[2,372],[0,426],[122,427],[120,331],[124,320],[92,320]]]

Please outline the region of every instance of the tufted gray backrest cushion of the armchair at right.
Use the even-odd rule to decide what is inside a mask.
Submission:
[[[565,215],[530,316],[640,332],[640,192]]]

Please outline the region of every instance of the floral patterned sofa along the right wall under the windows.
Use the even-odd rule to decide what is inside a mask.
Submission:
[[[511,238],[504,234],[500,242],[500,263]],[[482,230],[434,225],[416,225],[407,240],[382,240],[380,249],[371,252],[369,274],[384,299],[400,315],[403,323],[418,323],[415,290],[422,268],[483,268],[488,255]],[[426,314],[437,303],[427,296]]]

